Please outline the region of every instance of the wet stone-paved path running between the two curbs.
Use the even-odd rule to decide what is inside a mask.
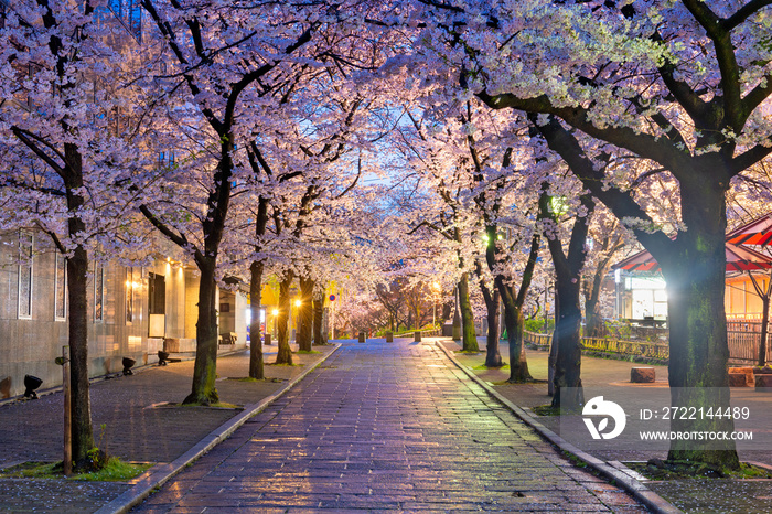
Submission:
[[[645,512],[433,344],[344,344],[135,512]]]

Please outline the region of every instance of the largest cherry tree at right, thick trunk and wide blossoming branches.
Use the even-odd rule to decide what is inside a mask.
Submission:
[[[550,147],[660,263],[668,286],[674,405],[728,406],[726,195],[772,151],[768,2],[437,6],[425,19],[441,30],[421,42],[448,42],[443,58],[470,75],[471,90],[492,108],[540,114]],[[626,188],[634,178],[599,169],[575,131],[672,176],[679,190],[676,232],[660,229]],[[698,425],[732,428],[726,419]],[[737,468],[733,448],[675,441],[668,457]]]

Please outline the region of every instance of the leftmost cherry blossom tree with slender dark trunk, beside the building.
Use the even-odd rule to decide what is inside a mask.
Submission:
[[[126,255],[131,237],[131,194],[120,184],[142,165],[125,108],[136,95],[128,84],[137,42],[92,1],[20,0],[3,15],[0,224],[42,231],[66,259],[72,456],[85,469],[95,446],[87,279],[95,253]]]

